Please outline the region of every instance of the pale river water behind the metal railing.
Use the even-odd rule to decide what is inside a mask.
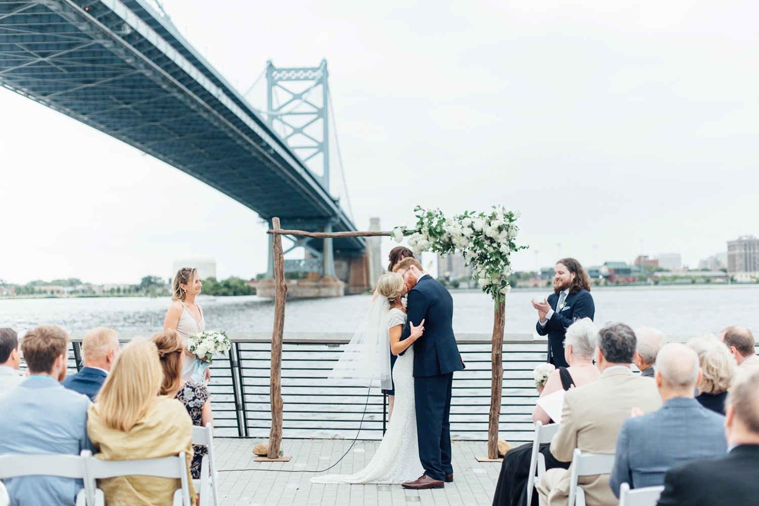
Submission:
[[[759,330],[759,285],[597,288],[595,321],[620,321],[632,327],[660,328],[667,335],[690,337],[716,333],[728,325]],[[537,312],[531,298],[550,291],[513,290],[506,296],[505,332],[534,332]],[[489,333],[493,329],[493,301],[476,291],[454,291],[455,332]],[[353,332],[370,305],[369,295],[328,299],[288,300],[285,332]],[[230,334],[271,332],[271,299],[205,297],[198,302],[206,315],[206,329]],[[0,299],[0,327],[23,335],[36,325],[60,325],[74,335],[107,326],[121,337],[160,332],[171,300],[168,297],[97,297]]]

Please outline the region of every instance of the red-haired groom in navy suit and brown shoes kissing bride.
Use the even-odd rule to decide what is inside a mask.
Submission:
[[[424,335],[414,342],[414,396],[419,460],[424,474],[404,489],[441,489],[453,481],[451,466],[451,392],[453,372],[464,369],[453,336],[453,299],[445,287],[412,257],[392,269],[408,288],[408,323],[424,320]],[[406,325],[401,340],[411,334]]]

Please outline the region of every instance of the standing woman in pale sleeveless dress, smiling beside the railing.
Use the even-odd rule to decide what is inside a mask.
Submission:
[[[182,371],[190,368],[195,357],[187,351],[187,336],[198,334],[206,330],[206,320],[203,318],[203,308],[195,302],[195,297],[200,295],[203,283],[200,282],[200,276],[197,275],[197,269],[194,267],[182,267],[174,276],[174,295],[172,295],[172,305],[166,312],[166,318],[163,320],[163,332],[175,330],[182,339],[184,350],[184,363]],[[191,379],[192,369],[182,375],[182,379],[187,381]],[[207,383],[211,379],[210,368],[206,369]]]

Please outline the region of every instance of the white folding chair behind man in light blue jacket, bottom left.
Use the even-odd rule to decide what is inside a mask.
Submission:
[[[82,455],[89,455],[83,450]],[[20,478],[21,476],[57,476],[59,478],[82,479],[85,488],[77,494],[77,506],[85,506],[87,498],[87,470],[83,457],[64,454],[8,454],[0,455],[0,479]],[[0,505],[10,502],[5,486],[0,492]]]

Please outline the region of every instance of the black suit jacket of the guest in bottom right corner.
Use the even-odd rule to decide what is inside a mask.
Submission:
[[[657,506],[743,506],[759,498],[759,445],[672,467]]]

